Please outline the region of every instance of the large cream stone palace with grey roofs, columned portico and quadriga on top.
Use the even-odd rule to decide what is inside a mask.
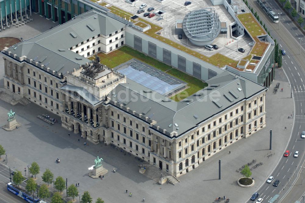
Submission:
[[[265,127],[267,87],[230,70],[218,68],[208,87],[176,102],[167,95],[185,84],[166,73],[86,58],[128,45],[131,29],[92,10],[5,48],[5,87],[89,142],[113,143],[176,177]]]

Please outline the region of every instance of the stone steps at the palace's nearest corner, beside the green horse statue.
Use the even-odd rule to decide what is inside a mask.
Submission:
[[[155,181],[157,183],[159,183],[159,180],[161,178],[161,173],[162,173],[162,176],[164,178],[167,178],[168,182],[173,185],[180,182],[180,180],[178,180],[176,177],[156,168],[153,165],[145,164],[145,167],[146,167],[146,170],[145,170],[145,173],[143,173],[143,175],[145,175],[146,177],[148,177],[149,179],[152,179],[153,181]]]

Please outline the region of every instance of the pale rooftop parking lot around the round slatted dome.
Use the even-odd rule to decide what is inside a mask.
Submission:
[[[223,54],[224,56],[227,56],[234,60],[239,60],[239,59],[246,57],[252,48],[249,45],[249,43],[252,42],[252,39],[249,36],[245,36],[242,39],[239,39],[238,42],[236,40],[234,41],[234,39],[231,38],[230,24],[233,23],[235,20],[233,19],[233,17],[231,17],[231,15],[228,13],[228,11],[226,10],[226,8],[223,5],[213,6],[209,0],[207,0],[207,1],[192,0],[191,1],[192,3],[188,6],[184,5],[185,4],[184,0],[177,0],[177,1],[166,0],[163,3],[160,3],[156,0],[153,0],[153,1],[139,0],[133,5],[125,2],[125,0],[115,0],[112,2],[107,0],[106,2],[108,2],[111,5],[117,6],[121,9],[124,9],[132,14],[145,18],[146,20],[148,20],[154,24],[160,25],[161,27],[164,28],[161,31],[162,36],[164,36],[168,39],[171,39],[174,42],[180,43],[181,45],[186,46],[186,47],[188,47],[192,50],[195,50],[208,57],[210,57],[216,53],[220,53],[220,54]],[[144,17],[143,16],[144,13],[138,14],[137,11],[140,9],[139,7],[143,3],[147,4],[147,6],[144,8],[144,10],[145,10],[144,13],[148,12],[147,9],[149,7],[155,8],[150,13],[153,13],[154,11],[156,11],[158,9],[165,11],[166,14],[163,17],[163,19],[162,19],[162,17],[159,17],[157,15],[152,18],[149,18],[149,17]],[[237,5],[239,8],[243,8],[242,0],[234,1],[234,2],[232,2],[232,4]],[[204,47],[202,47],[202,46],[195,46],[188,41],[188,39],[185,35],[183,35],[182,39],[178,39],[178,35],[175,33],[176,20],[183,20],[183,18],[185,17],[185,14],[189,13],[192,10],[198,10],[198,9],[210,8],[210,7],[215,9],[215,11],[218,13],[218,16],[219,16],[219,19],[221,22],[227,23],[228,34],[220,34],[213,42],[213,44],[216,44],[219,47],[219,49],[210,51],[210,50],[204,49]],[[246,8],[243,8],[243,9],[246,9]],[[230,43],[230,41],[231,41],[231,43]],[[227,42],[228,42],[228,45],[227,45]],[[245,50],[245,52],[241,53],[241,52],[237,51],[238,48],[243,48]]]

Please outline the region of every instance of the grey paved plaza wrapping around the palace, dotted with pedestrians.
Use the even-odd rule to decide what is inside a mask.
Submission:
[[[39,20],[41,21],[34,20],[32,23],[41,22],[46,30],[51,27],[47,24],[51,21],[42,17]],[[23,26],[26,32],[24,34],[22,27],[15,28],[18,29],[17,37],[22,36],[23,39],[27,39],[25,36],[31,37],[31,28],[26,28],[28,25]],[[32,29],[36,30],[34,27]],[[1,85],[4,73],[3,62],[0,63],[0,69]],[[141,175],[138,173],[139,161],[133,156],[124,156],[109,145],[89,143],[89,146],[84,147],[84,139],[81,139],[80,134],[74,135],[73,132],[62,128],[60,123],[49,126],[37,119],[36,115],[48,112],[33,103],[27,106],[19,104],[11,106],[0,100],[0,115],[2,115],[0,124],[6,123],[7,112],[10,109],[16,112],[17,121],[22,124],[20,128],[11,132],[1,129],[0,144],[7,151],[8,166],[12,169],[23,172],[24,167],[36,161],[41,167],[41,173],[37,175],[38,183],[42,183],[41,175],[46,168],[49,168],[55,178],[57,176],[68,178],[68,185],[80,183],[78,188],[80,193],[88,190],[94,201],[97,197],[102,197],[105,202],[133,203],[140,202],[145,197],[146,202],[209,203],[213,202],[215,197],[225,195],[230,198],[230,202],[245,202],[271,174],[279,158],[282,157],[291,134],[293,120],[288,119],[288,116],[294,107],[290,98],[290,86],[282,68],[276,69],[275,79],[266,97],[266,127],[249,138],[243,138],[224,148],[196,169],[179,177],[181,182],[175,186],[171,184],[161,186]],[[277,82],[281,83],[280,88],[284,88],[284,91],[272,94]],[[50,115],[60,120],[59,116]],[[284,127],[287,127],[287,130],[284,130]],[[275,154],[268,159],[265,156],[270,153],[270,129],[273,131],[271,152]],[[71,134],[70,137],[68,133]],[[78,139],[81,139],[81,142],[78,142]],[[228,154],[229,151],[231,154]],[[103,180],[92,179],[87,175],[88,167],[94,165],[96,156],[104,159],[104,167],[109,171]],[[57,157],[61,160],[60,164],[55,162]],[[221,159],[221,180],[218,180],[218,159]],[[241,175],[235,170],[253,159],[257,159],[258,162],[263,161],[264,164],[252,170],[255,185],[251,188],[241,188],[236,183]],[[111,172],[113,168],[117,169],[116,173]],[[128,197],[128,194],[124,193],[125,190],[132,192],[132,197]],[[66,196],[65,193],[63,195]]]

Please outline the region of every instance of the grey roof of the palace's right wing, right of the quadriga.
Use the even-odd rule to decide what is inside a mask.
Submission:
[[[178,135],[196,127],[197,124],[231,105],[267,90],[258,83],[225,71],[207,80],[208,87],[183,101],[176,102],[166,101],[169,100],[167,97],[156,92],[145,93],[143,90],[147,90],[147,87],[130,79],[126,82],[114,88],[108,97],[136,113],[155,120],[157,122],[155,126],[166,129],[167,132],[176,131]]]

